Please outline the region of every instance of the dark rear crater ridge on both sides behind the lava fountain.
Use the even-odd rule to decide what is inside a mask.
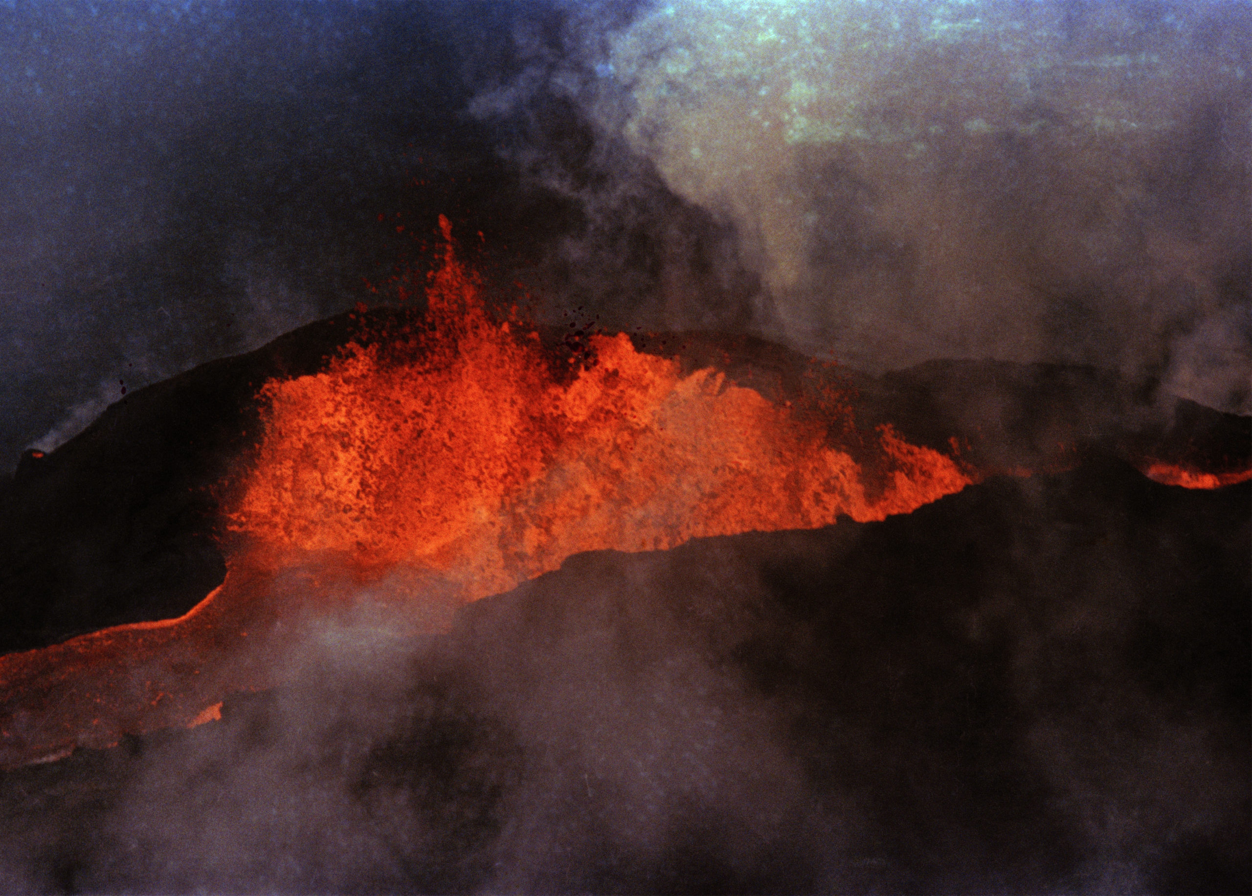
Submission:
[[[387,340],[412,308],[358,308],[248,355],[133,392],[50,454],[28,451],[0,479],[0,654],[110,625],[178,617],[222,583],[219,485],[264,431],[258,390],[318,373],[346,346]],[[418,315],[419,316],[419,315]],[[582,331],[538,328],[555,365],[577,363]],[[1097,450],[1236,475],[1252,467],[1252,421],[1136,391],[1092,367],[943,361],[868,376],[815,365],[751,337],[631,337],[772,402],[843,396],[840,447],[864,460],[890,425],[975,475],[1063,469]]]

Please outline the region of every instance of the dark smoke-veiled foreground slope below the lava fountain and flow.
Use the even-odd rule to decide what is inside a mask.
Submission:
[[[0,774],[0,887],[1247,892],[1249,506],[1092,451],[338,620],[220,721]]]

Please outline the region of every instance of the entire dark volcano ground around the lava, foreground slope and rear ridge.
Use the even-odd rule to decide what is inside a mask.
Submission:
[[[195,607],[225,575],[217,485],[262,435],[260,385],[411,313],[295,331],[28,454],[0,489],[3,649]],[[580,335],[536,338],[582,363]],[[339,612],[300,614],[307,579],[277,570],[294,608],[277,625],[298,633],[248,657],[280,684],[237,684],[190,731],[144,727],[170,694],[139,688],[104,719],[130,732],[119,746],[18,749],[0,887],[1252,887],[1252,485],[1141,471],[1237,479],[1248,420],[1093,368],[873,377],[744,337],[631,343],[775,404],[833,390],[851,456],[869,464],[890,424],[975,484],[879,523],[577,554],[426,637],[351,579]],[[163,680],[190,683],[215,660],[172,662]],[[5,685],[6,744],[59,688],[90,708],[84,682],[49,680]]]

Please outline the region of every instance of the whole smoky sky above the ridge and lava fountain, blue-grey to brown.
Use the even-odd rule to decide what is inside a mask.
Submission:
[[[541,315],[1248,412],[1249,10],[0,3],[0,469],[439,213]]]

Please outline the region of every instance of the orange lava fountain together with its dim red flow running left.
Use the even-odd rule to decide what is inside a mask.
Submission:
[[[363,594],[407,634],[439,630],[578,551],[881,520],[973,481],[889,426],[866,470],[831,440],[838,401],[684,375],[625,335],[562,365],[488,316],[441,226],[419,326],[260,390],[264,436],[223,490],[220,588],[179,619],[0,658],[0,764],[209,718],[282,679],[302,620]]]

